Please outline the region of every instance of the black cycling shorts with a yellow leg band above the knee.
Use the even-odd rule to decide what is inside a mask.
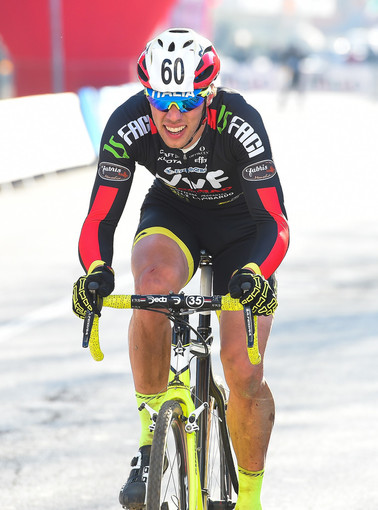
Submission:
[[[201,250],[212,256],[214,294],[227,294],[232,273],[253,262],[256,226],[247,205],[240,201],[227,207],[202,209],[176,197],[164,197],[163,201],[152,188],[141,207],[134,244],[156,233],[179,244],[188,261],[188,281],[198,268]],[[276,289],[274,274],[268,281]]]

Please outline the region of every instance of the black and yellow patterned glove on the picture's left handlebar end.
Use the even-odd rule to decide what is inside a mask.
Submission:
[[[114,290],[114,271],[102,260],[96,260],[88,269],[88,274],[81,276],[74,283],[72,293],[72,309],[81,319],[85,318],[87,310],[94,311],[101,315],[96,303],[93,302],[93,294],[89,291],[88,285],[91,282],[98,284],[97,294],[101,297],[108,296]]]

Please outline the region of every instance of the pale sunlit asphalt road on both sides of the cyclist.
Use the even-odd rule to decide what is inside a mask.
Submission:
[[[285,191],[292,241],[266,355],[276,425],[264,510],[378,508],[377,103],[252,95]],[[105,359],[71,312],[77,239],[94,169],[0,192],[0,508],[113,510],[139,420],[129,312],[102,318]],[[141,170],[116,237],[118,292],[132,291]],[[193,284],[193,289],[196,285]]]

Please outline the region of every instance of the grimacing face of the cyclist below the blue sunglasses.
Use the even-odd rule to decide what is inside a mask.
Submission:
[[[189,140],[198,128],[204,108],[202,103],[190,112],[182,113],[175,105],[172,105],[167,112],[161,112],[154,106],[150,106],[152,119],[159,135],[164,143],[168,147],[172,147],[172,149],[180,149],[189,143]],[[201,126],[193,140],[191,140],[191,145],[200,138],[204,129],[205,127]]]

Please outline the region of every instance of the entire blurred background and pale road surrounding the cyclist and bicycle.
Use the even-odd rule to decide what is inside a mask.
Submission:
[[[102,129],[140,89],[146,42],[173,26],[210,38],[219,83],[262,114],[289,215],[263,508],[376,510],[378,0],[0,2],[1,510],[120,508],[139,436],[130,314],[103,313],[96,364],[71,292]],[[116,293],[132,292],[150,182],[137,167]]]

